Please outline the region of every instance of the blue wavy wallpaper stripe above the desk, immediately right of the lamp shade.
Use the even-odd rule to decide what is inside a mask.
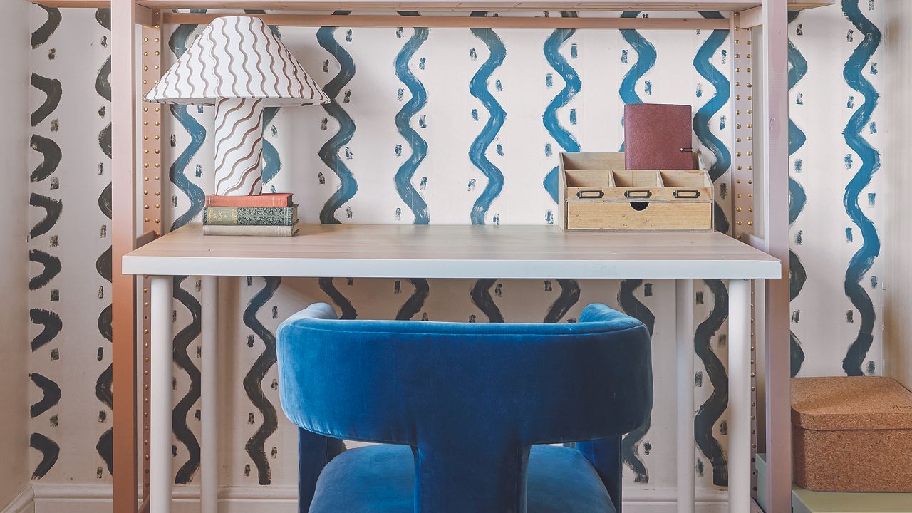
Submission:
[[[349,13],[351,11],[336,11],[333,14],[348,15]],[[319,151],[320,160],[339,177],[339,188],[326,200],[323,210],[320,211],[320,223],[326,225],[341,224],[336,218],[336,211],[358,192],[358,182],[355,180],[354,174],[339,156],[339,150],[344,148],[348,141],[351,141],[352,135],[355,133],[355,121],[342,108],[342,102],[336,99],[342,88],[355,76],[355,61],[336,40],[337,28],[337,26],[323,26],[316,31],[316,41],[320,47],[329,52],[339,63],[338,74],[323,88],[326,96],[332,99],[323,106],[323,109],[339,124],[339,130],[329,138],[329,141],[326,141]]]

